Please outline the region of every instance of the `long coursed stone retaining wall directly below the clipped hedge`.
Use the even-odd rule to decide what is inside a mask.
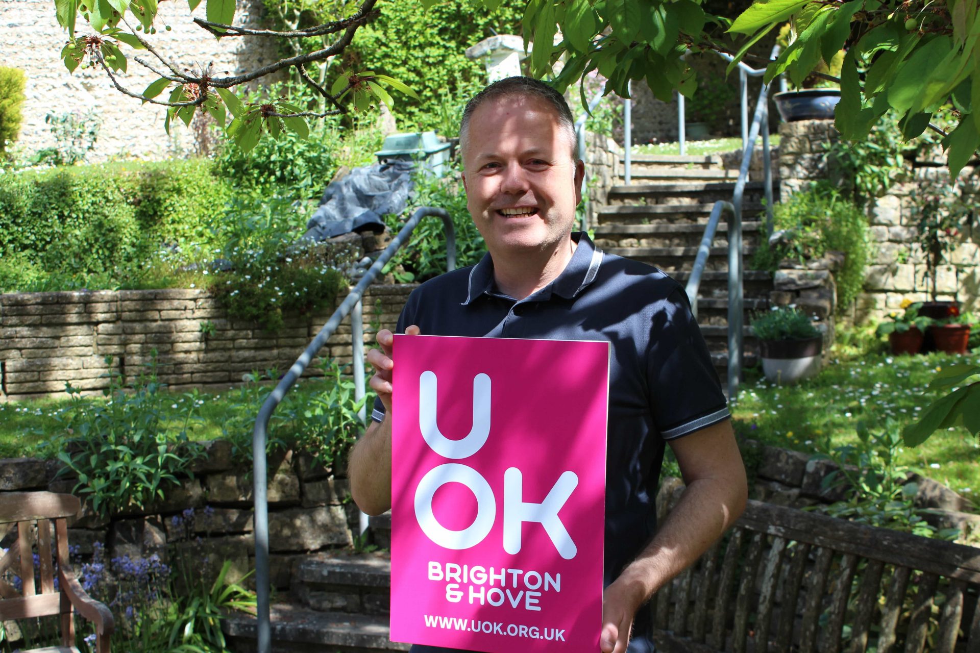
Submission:
[[[395,284],[368,289],[366,343],[373,342],[376,327],[394,328],[413,288]],[[81,391],[100,390],[108,387],[110,372],[139,374],[153,350],[158,352],[160,380],[175,388],[236,383],[256,369],[284,372],[332,311],[292,317],[271,334],[227,319],[203,290],[0,295],[0,400],[64,394],[66,382]],[[213,333],[202,331],[206,324]],[[349,317],[320,355],[351,361]],[[308,367],[308,375],[320,373],[317,362]]]

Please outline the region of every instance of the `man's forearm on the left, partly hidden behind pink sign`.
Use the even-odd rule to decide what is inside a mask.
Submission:
[[[371,422],[363,438],[351,450],[348,466],[351,496],[368,515],[380,515],[391,507],[391,418]]]

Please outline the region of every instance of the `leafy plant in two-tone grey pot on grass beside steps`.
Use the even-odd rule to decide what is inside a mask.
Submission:
[[[779,385],[794,384],[820,371],[823,336],[795,306],[773,306],[752,321],[759,338],[762,373]]]

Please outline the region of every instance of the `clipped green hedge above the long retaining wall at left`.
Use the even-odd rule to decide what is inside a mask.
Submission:
[[[0,290],[140,287],[163,244],[207,242],[229,196],[206,161],[0,174]]]

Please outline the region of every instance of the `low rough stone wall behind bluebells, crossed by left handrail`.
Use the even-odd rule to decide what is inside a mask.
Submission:
[[[207,455],[192,464],[193,479],[165,485],[165,497],[144,508],[130,507],[103,516],[82,502],[80,515],[69,523],[69,542],[83,558],[96,543],[106,559],[153,554],[165,561],[183,554],[205,577],[217,576],[225,560],[229,578],[241,579],[255,568],[252,519],[252,464],[234,460],[231,444],[206,443]],[[11,491],[48,490],[70,493],[76,479],[56,478],[57,461],[35,458],[0,460],[0,501]],[[313,459],[291,452],[269,461],[270,573],[275,587],[289,586],[293,564],[305,554],[350,546],[358,513],[348,499],[344,466],[334,474]],[[0,546],[10,546],[0,532]]]

